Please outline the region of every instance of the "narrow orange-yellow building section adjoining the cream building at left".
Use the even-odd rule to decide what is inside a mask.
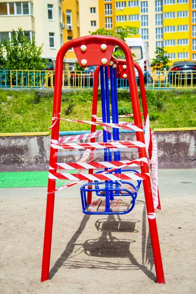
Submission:
[[[78,0],[66,0],[62,2],[63,11],[63,40],[64,43],[80,36],[80,18]],[[82,14],[80,14],[82,16]],[[81,18],[83,20],[83,18]],[[66,70],[73,71],[76,56],[73,48],[65,55]]]

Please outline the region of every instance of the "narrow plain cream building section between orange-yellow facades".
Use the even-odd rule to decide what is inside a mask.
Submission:
[[[89,31],[96,31],[100,27],[98,2],[98,0],[79,0],[81,36],[88,36]]]

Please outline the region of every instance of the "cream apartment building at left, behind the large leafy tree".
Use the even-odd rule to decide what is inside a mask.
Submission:
[[[11,39],[19,27],[37,46],[44,44],[42,57],[55,59],[63,45],[61,0],[0,0],[0,41]]]

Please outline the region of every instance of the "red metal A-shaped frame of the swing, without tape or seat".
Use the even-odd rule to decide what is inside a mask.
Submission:
[[[105,44],[110,48],[108,52],[100,50],[101,44]],[[61,94],[62,94],[62,75],[63,75],[63,58],[66,52],[73,48],[76,56],[78,58],[78,62],[81,64],[81,59],[83,57],[82,52],[79,50],[81,45],[85,45],[91,50],[85,52],[85,58],[90,60],[90,64],[88,65],[103,65],[101,64],[101,58],[104,57],[107,59],[107,64],[109,65],[109,61],[111,59],[111,51],[115,45],[120,47],[125,55],[126,58],[126,66],[127,66],[127,75],[129,81],[129,89],[130,89],[130,98],[131,104],[133,109],[133,118],[135,125],[142,128],[142,118],[141,118],[141,111],[139,105],[139,97],[138,97],[138,90],[137,90],[137,83],[135,77],[135,69],[138,70],[139,73],[139,80],[140,80],[140,89],[142,95],[142,104],[143,104],[143,111],[144,117],[147,117],[147,103],[146,103],[146,93],[145,93],[145,85],[144,85],[144,78],[143,73],[140,67],[133,62],[133,57],[129,47],[120,39],[115,37],[108,37],[108,36],[99,36],[99,35],[92,35],[86,37],[80,37],[74,40],[67,42],[63,47],[59,50],[56,58],[56,69],[55,69],[55,83],[54,83],[54,99],[53,99],[53,113],[52,113],[52,123],[53,125],[51,129],[51,140],[59,140],[59,125],[60,125],[60,110],[61,110]],[[92,50],[95,49],[95,54],[92,54]],[[107,51],[107,50],[106,50]],[[110,51],[110,52],[109,52]],[[92,57],[93,55],[93,57]],[[122,61],[123,63],[124,61]],[[93,92],[93,110],[92,110],[92,121],[96,121],[95,116],[97,114],[97,96],[98,96],[98,70],[95,72],[95,79],[94,79],[94,92]],[[55,119],[54,119],[55,118]],[[91,131],[94,132],[96,130],[96,125],[91,126]],[[143,132],[136,132],[137,141],[145,143],[144,133]],[[95,138],[91,139],[91,142],[94,142]],[[138,148],[139,157],[147,157],[146,149],[145,148]],[[54,159],[55,149],[50,147],[50,159],[49,162],[52,162]],[[149,153],[150,156],[150,153]],[[93,170],[89,170],[90,173],[93,173]],[[148,173],[149,169],[148,166],[141,166],[142,173]],[[52,225],[53,225],[53,212],[54,212],[54,198],[55,193],[52,192],[55,190],[55,180],[49,179],[48,182],[48,196],[47,196],[47,207],[46,207],[46,223],[45,223],[45,236],[44,236],[44,248],[43,248],[43,261],[42,261],[42,275],[41,281],[46,281],[49,279],[49,263],[50,263],[50,252],[51,252],[51,239],[52,239]],[[149,224],[149,231],[152,243],[152,250],[154,256],[154,264],[157,276],[158,283],[165,283],[164,278],[164,271],[163,271],[163,264],[161,258],[161,251],[159,245],[159,238],[158,238],[158,231],[157,231],[157,224],[156,224],[156,217],[154,213],[154,205],[153,205],[153,198],[152,198],[152,191],[151,191],[151,183],[150,179],[146,179],[143,181],[144,185],[144,193],[145,193],[145,200],[146,200],[146,208],[147,208],[147,217],[148,217],[148,224]],[[88,202],[91,201],[91,195],[88,195]],[[159,202],[160,205],[160,202]],[[160,207],[159,207],[160,208]]]

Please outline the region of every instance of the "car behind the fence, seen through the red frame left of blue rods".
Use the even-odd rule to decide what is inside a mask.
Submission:
[[[97,66],[85,67],[82,72],[74,71],[70,74],[70,86],[73,87],[93,87],[94,73]]]

